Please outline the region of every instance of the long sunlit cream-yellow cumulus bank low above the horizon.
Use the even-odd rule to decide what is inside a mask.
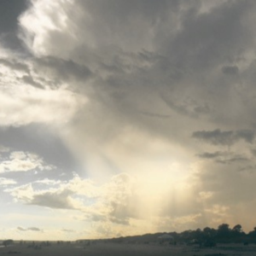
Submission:
[[[84,221],[97,224],[131,225],[134,221],[143,222],[144,218],[156,218],[158,214],[165,217],[173,215],[173,218],[177,218],[177,215],[186,216],[190,214],[190,211],[194,211],[192,204],[195,201],[191,201],[191,197],[184,193],[183,186],[172,188],[175,191],[170,190],[169,195],[172,200],[176,201],[176,196],[185,195],[171,210],[172,200],[163,198],[166,194],[166,187],[165,189],[158,188],[159,190],[155,190],[154,195],[150,195],[148,186],[143,180],[135,180],[125,173],[114,176],[103,185],[91,183],[90,180],[82,179],[77,175],[66,183],[55,184],[54,188],[51,187],[52,183],[47,182],[48,188],[38,189],[37,183],[15,186],[12,189],[5,189],[5,192],[10,193],[16,201],[21,201],[26,205],[77,210],[83,214]],[[189,192],[189,188],[187,190]],[[189,201],[190,209],[185,207]],[[160,205],[157,205],[157,202]],[[158,207],[162,208],[162,212],[159,212]]]

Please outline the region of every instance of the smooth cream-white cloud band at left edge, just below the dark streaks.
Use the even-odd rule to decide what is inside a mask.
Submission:
[[[68,90],[39,91],[32,86],[22,87],[24,90],[9,85],[9,91],[1,94],[0,125],[65,124],[79,108],[75,94]]]

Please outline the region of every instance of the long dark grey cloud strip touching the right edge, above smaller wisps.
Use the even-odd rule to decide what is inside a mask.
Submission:
[[[255,132],[250,130],[221,131],[216,129],[213,131],[195,131],[193,132],[192,137],[201,139],[202,141],[213,145],[232,145],[239,140],[253,143]]]

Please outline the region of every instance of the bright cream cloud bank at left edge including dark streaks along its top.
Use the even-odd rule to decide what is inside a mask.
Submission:
[[[21,63],[16,59],[17,56],[13,60],[0,61],[3,64],[0,73],[4,73],[0,78],[0,84],[3,85],[0,96],[1,126],[31,123],[63,124],[72,119],[74,113],[86,102],[86,97],[67,89],[68,81],[65,77],[65,75],[69,76],[68,68],[71,75],[80,73],[85,77],[87,76],[85,67],[79,71],[77,70],[79,65],[75,66],[72,61],[67,61],[67,65],[64,61],[63,66],[61,61],[53,59],[55,65],[50,64],[49,61],[48,67],[43,68],[47,60],[40,62],[26,59]],[[45,77],[45,73],[53,75]],[[61,76],[62,79],[58,79]]]

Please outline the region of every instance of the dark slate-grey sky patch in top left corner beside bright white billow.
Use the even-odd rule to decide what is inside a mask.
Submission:
[[[0,8],[0,37],[4,47],[9,49],[23,49],[18,38],[18,17],[27,8],[26,0],[3,0]]]

